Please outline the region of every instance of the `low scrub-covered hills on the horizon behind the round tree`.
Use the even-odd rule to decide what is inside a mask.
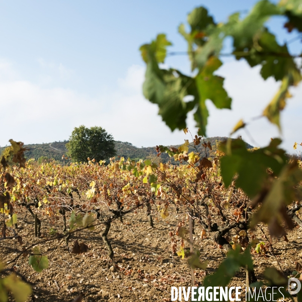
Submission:
[[[217,142],[221,142],[226,140],[227,137],[208,137],[205,139],[205,141],[210,141],[212,146],[212,151],[210,155],[214,155],[214,152],[216,150],[216,144]],[[66,160],[62,160],[62,156],[67,154],[67,149],[65,144],[68,142],[68,140],[64,141],[54,141],[51,143],[36,143],[36,144],[28,144],[26,145],[27,148],[29,148],[28,151],[25,152],[25,157],[27,159],[35,159],[36,161],[41,158],[45,157],[48,159],[54,159],[55,161],[58,161],[60,163],[66,163]],[[193,144],[193,143],[191,143]],[[178,148],[180,145],[169,145],[169,147],[176,147]],[[247,144],[249,148],[252,148],[250,144]],[[5,147],[0,147],[0,154],[2,150]],[[116,156],[124,157],[124,158],[130,158],[135,161],[138,161],[139,159],[145,160],[145,159],[151,159],[156,160],[157,159],[157,152],[155,147],[136,147],[132,145],[130,142],[123,142],[123,141],[115,141],[115,148],[116,148]],[[202,157],[205,156],[205,150],[201,144],[197,146],[198,151],[201,150]],[[192,152],[194,150],[193,147],[189,147],[189,152]],[[208,149],[207,149],[208,150]],[[207,154],[209,155],[209,154]],[[162,154],[160,157],[160,160],[164,163],[168,162],[169,160],[172,162],[172,164],[175,164],[173,158],[169,158],[168,154]]]

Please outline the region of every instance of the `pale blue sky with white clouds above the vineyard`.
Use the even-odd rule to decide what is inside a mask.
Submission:
[[[142,95],[145,64],[139,46],[166,33],[173,46],[185,51],[178,34],[180,23],[195,7],[205,6],[216,22],[234,12],[246,14],[254,0],[78,0],[0,1],[0,146],[10,138],[25,144],[68,139],[73,128],[101,126],[115,140],[133,145],[180,144],[183,131],[173,133],[158,115],[157,105]],[[282,18],[268,23],[280,42],[297,36],[286,34]],[[298,53],[299,42],[290,44]],[[228,43],[225,50],[229,50]],[[261,115],[279,83],[263,81],[258,67],[244,61],[223,59],[216,72],[225,77],[225,88],[233,98],[232,110],[215,109],[207,101],[210,117],[207,136],[229,136],[241,118],[252,121],[238,135],[254,146],[271,137],[281,137],[282,146],[293,153],[302,141],[300,128],[302,88],[282,112],[282,133]],[[165,62],[190,74],[186,56],[170,56]],[[195,134],[192,114],[189,129]]]

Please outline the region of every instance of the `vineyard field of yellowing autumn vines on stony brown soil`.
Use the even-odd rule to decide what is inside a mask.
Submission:
[[[16,301],[31,293],[35,301],[82,295],[87,301],[168,301],[171,286],[210,281],[226,253],[233,257],[228,278],[237,286],[263,280],[263,273],[270,278],[268,265],[285,275],[298,271],[301,205],[287,208],[296,224],[281,240],[271,240],[262,223],[250,229],[257,206],[234,181],[223,185],[223,152],[199,158],[196,146],[208,154],[211,144],[197,135],[192,140],[178,149],[158,146],[159,155],[167,152],[179,166],[124,158],[108,166],[94,159],[38,166],[25,163],[22,143],[12,141],[24,168],[2,161],[2,271],[24,283],[21,292],[3,279],[2,296],[8,288]],[[188,153],[189,146],[195,152]]]

